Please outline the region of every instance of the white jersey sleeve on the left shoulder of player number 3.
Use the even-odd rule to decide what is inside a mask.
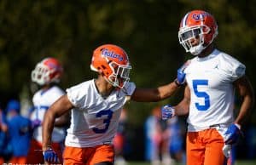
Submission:
[[[83,84],[73,86],[72,88],[67,88],[67,98],[75,107],[80,107],[84,103],[85,94],[82,90]]]

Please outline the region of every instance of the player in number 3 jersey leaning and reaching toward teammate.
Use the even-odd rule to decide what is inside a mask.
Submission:
[[[183,83],[185,75],[159,88],[136,88],[130,83],[131,64],[123,48],[104,44],[93,52],[90,68],[98,73],[91,79],[67,88],[44,116],[43,151],[45,162],[58,160],[51,146],[51,133],[56,117],[72,111],[67,129],[64,164],[113,165],[113,137],[120,112],[128,100],[141,102],[164,100]]]

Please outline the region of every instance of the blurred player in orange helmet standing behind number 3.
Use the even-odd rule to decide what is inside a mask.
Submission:
[[[44,163],[44,156],[42,154],[42,122],[45,112],[49,109],[55,100],[58,100],[65,92],[57,86],[60,83],[63,68],[61,63],[55,58],[49,57],[38,62],[35,69],[32,71],[32,82],[37,83],[40,89],[33,95],[32,98],[32,128],[33,137],[31,148],[27,157],[27,163],[39,164]],[[51,140],[53,148],[60,156],[64,146],[64,139],[66,135],[66,127],[69,123],[68,114],[55,119],[55,127]]]

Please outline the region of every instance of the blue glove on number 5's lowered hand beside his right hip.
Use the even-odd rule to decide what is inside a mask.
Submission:
[[[236,144],[239,137],[242,135],[240,126],[236,123],[230,124],[228,130],[224,133],[224,143],[226,145]]]

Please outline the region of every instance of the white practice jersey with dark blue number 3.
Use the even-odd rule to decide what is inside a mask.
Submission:
[[[106,99],[97,92],[94,80],[67,88],[67,97],[75,108],[65,145],[93,147],[112,144],[120,112],[135,88],[134,83],[126,83],[124,88],[113,90]]]

